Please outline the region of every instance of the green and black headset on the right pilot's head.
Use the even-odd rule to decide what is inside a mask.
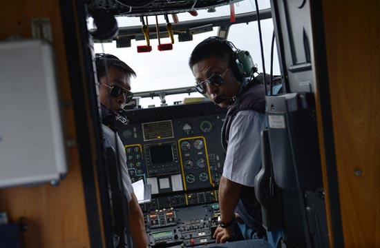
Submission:
[[[252,76],[255,72],[258,72],[257,65],[254,63],[251,54],[246,50],[240,50],[236,48],[234,43],[227,41],[220,37],[209,37],[209,41],[218,41],[219,43],[226,44],[231,48],[231,69],[236,76],[236,79],[243,81],[247,76]]]

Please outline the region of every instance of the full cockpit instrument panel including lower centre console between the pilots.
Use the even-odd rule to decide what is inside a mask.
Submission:
[[[150,247],[192,247],[214,242],[218,185],[225,152],[220,132],[225,110],[192,103],[126,112],[120,125],[132,182],[151,185],[141,205]]]

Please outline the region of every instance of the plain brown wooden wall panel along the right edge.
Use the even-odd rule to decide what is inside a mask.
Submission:
[[[380,247],[379,10],[380,1],[323,1],[345,247]]]

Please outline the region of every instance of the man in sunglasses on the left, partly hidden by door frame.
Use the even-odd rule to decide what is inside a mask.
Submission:
[[[146,248],[148,243],[144,228],[144,216],[133,193],[131,178],[129,178],[126,167],[124,145],[117,134],[117,141],[114,138],[115,132],[117,132],[116,122],[121,121],[127,124],[126,118],[120,116],[119,113],[124,105],[132,99],[131,76],[136,76],[136,73],[126,63],[111,54],[97,54],[95,64],[99,82],[99,101],[102,107],[104,145],[119,149],[122,183],[129,205],[129,226],[131,227],[133,247]],[[115,147],[115,143],[117,143],[117,147]]]

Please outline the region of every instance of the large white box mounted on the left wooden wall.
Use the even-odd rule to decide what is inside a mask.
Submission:
[[[67,172],[52,45],[0,42],[0,187]]]

